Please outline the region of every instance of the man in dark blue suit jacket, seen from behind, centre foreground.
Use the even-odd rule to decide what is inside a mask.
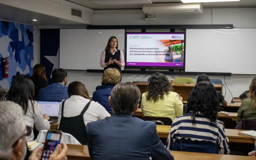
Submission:
[[[93,160],[173,160],[158,137],[156,124],[131,116],[139,99],[140,90],[133,83],[115,85],[109,97],[114,114],[86,126]]]

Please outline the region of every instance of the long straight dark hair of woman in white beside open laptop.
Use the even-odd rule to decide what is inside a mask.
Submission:
[[[29,101],[31,101],[34,112],[34,94],[35,86],[33,81],[26,75],[17,75],[11,84],[6,99],[18,103],[26,114],[29,108]]]

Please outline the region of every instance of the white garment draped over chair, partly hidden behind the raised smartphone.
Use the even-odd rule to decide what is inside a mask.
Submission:
[[[35,139],[35,140],[38,142],[44,142],[47,132],[48,132],[48,130],[41,130],[37,136],[37,139]],[[61,142],[64,142],[65,144],[80,144],[81,145],[81,143],[77,139],[75,139],[74,136],[72,136],[69,133],[64,133],[64,132],[62,132]]]

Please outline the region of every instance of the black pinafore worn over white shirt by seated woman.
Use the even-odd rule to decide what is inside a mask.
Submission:
[[[59,130],[64,133],[71,134],[81,144],[87,145],[88,136],[87,136],[86,126],[84,124],[83,115],[87,111],[91,101],[89,101],[86,104],[86,106],[83,108],[83,111],[80,113],[80,115],[74,116],[74,117],[64,117],[63,116],[64,103],[65,103],[65,100],[62,102]]]

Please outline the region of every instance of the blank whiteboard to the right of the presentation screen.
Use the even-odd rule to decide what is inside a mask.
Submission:
[[[256,28],[187,29],[186,72],[256,74]]]

